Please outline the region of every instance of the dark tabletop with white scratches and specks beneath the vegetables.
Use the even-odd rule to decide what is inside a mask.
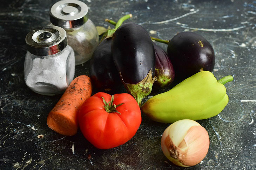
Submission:
[[[25,36],[49,22],[51,0],[0,1],[0,169],[183,169],[162,154],[161,134],[169,124],[142,114],[135,136],[122,146],[100,150],[79,132],[68,137],[50,130],[48,112],[60,98],[33,93],[23,80]],[[207,156],[187,169],[256,168],[256,1],[87,0],[89,18],[107,27],[128,13],[151,36],[171,39],[195,31],[215,50],[214,75],[233,75],[229,104],[218,115],[198,121],[209,133]],[[159,44],[159,43],[157,43]],[[164,49],[165,44],[159,44]],[[76,76],[88,75],[88,63]],[[143,100],[143,102],[145,99]],[[43,138],[38,135],[43,134]],[[73,149],[72,149],[73,146]]]

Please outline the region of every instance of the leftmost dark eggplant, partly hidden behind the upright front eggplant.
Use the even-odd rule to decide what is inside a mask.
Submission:
[[[89,72],[97,91],[113,94],[122,85],[111,52],[112,38],[104,39],[90,60]]]

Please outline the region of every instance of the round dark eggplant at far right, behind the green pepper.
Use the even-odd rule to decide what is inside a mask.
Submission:
[[[200,71],[213,71],[214,50],[201,35],[194,32],[180,32],[169,42],[167,53],[174,66],[175,79],[184,79]]]

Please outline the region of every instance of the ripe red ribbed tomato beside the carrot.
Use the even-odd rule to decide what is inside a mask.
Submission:
[[[141,124],[141,111],[128,93],[115,94],[113,105],[119,112],[108,113],[102,97],[110,102],[111,95],[96,93],[86,99],[79,111],[79,127],[85,138],[96,148],[109,149],[130,140]]]

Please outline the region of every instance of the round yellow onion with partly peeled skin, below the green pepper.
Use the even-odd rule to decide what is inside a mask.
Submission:
[[[174,164],[190,167],[206,156],[210,141],[208,132],[194,120],[178,120],[163,132],[161,147]]]

